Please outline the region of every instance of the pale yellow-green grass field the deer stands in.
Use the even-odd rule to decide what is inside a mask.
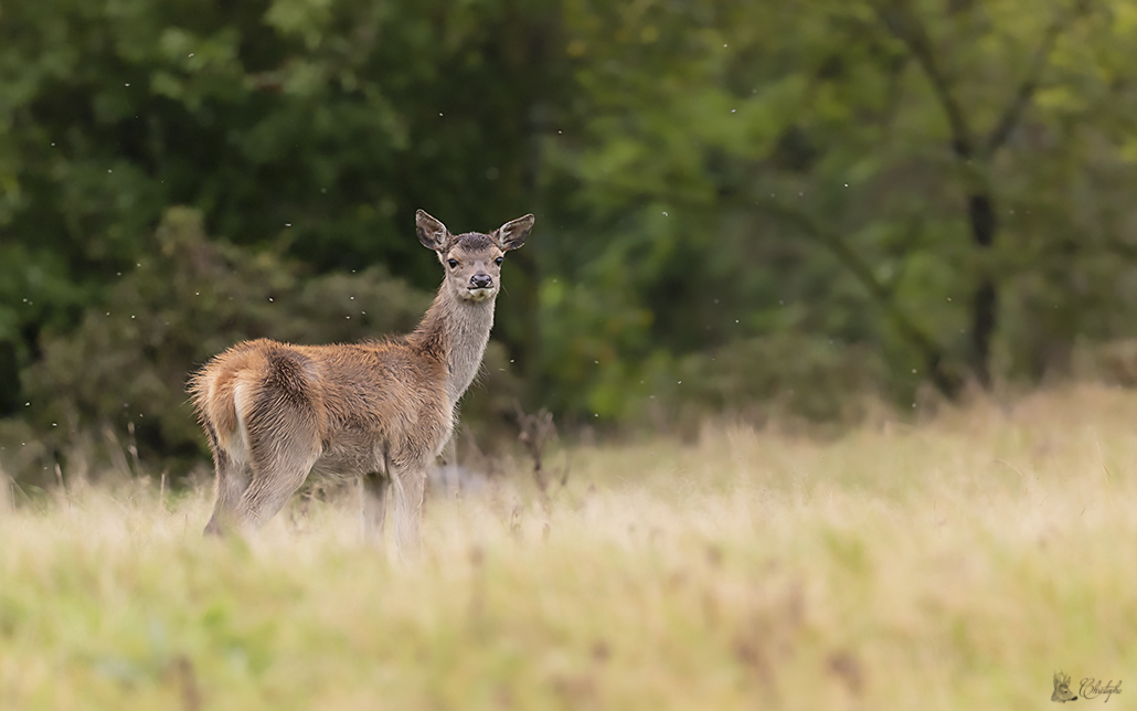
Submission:
[[[208,491],[73,486],[0,512],[0,708],[1132,708],[1135,472],[1137,394],[1079,387],[574,449],[432,497],[415,564],[350,502],[218,541]]]

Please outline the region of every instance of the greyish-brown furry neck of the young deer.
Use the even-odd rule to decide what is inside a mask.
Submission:
[[[418,347],[446,364],[446,394],[453,407],[473,382],[493,328],[493,303],[466,301],[442,284],[415,330]]]

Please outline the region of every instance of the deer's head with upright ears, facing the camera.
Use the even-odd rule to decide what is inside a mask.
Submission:
[[[446,270],[447,294],[462,301],[481,303],[497,296],[505,253],[525,243],[533,229],[533,216],[507,222],[491,234],[450,234],[445,224],[424,210],[415,214],[415,225],[418,241],[434,250]]]

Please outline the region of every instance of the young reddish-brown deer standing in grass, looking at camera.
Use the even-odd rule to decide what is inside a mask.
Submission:
[[[207,534],[260,526],[316,471],[363,479],[368,536],[382,534],[393,486],[396,544],[404,555],[417,549],[428,466],[481,366],[501,258],[525,242],[533,216],[492,234],[450,234],[423,210],[415,222],[446,276],[413,333],[333,346],[244,341],[192,377],[217,469]]]

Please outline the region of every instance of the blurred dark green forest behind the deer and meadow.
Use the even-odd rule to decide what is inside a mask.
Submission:
[[[1137,0],[0,3],[0,466],[205,462],[235,340],[413,328],[563,430],[1137,380]],[[82,454],[80,454],[82,453]]]

